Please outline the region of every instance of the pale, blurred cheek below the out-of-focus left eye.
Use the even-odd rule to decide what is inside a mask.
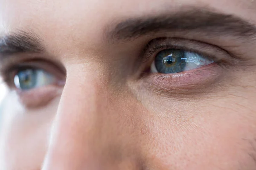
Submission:
[[[3,108],[0,156],[3,167],[10,170],[35,169],[44,159],[49,129],[54,119],[59,99],[52,100],[41,109],[26,110],[10,95]],[[15,102],[14,102],[15,101]]]

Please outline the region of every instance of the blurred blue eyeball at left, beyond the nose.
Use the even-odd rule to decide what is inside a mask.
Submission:
[[[31,90],[55,82],[55,77],[42,69],[27,68],[20,70],[14,77],[16,88],[20,90]]]

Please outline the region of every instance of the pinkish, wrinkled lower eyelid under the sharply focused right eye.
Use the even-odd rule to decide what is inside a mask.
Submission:
[[[177,74],[149,74],[143,77],[142,83],[147,88],[154,88],[160,93],[189,94],[193,90],[202,89],[214,84],[223,69],[217,63],[212,63],[204,67],[185,71]]]

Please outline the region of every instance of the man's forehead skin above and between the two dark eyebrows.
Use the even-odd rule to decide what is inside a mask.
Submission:
[[[252,0],[0,0],[0,4],[0,34],[31,30],[57,46],[70,40],[93,44],[102,39],[105,26],[116,20],[188,7],[234,14],[256,23],[256,1]]]

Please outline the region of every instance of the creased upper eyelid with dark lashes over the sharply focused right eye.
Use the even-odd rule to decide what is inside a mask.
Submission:
[[[216,45],[211,45],[206,42],[200,42],[198,40],[188,40],[177,37],[159,37],[149,41],[145,45],[145,48],[142,50],[142,53],[140,53],[141,60],[138,63],[136,62],[136,65],[139,65],[137,66],[137,68],[139,69],[140,73],[136,74],[137,78],[146,77],[149,74],[155,74],[157,76],[161,75],[162,77],[166,77],[166,74],[159,75],[150,72],[150,67],[152,62],[154,62],[155,57],[160,51],[163,51],[165,49],[179,49],[197,53],[201,56],[206,57],[207,59],[214,61],[215,64],[225,69],[230,68],[230,66],[233,66],[237,63],[237,59],[235,59],[227,51]],[[135,69],[135,72],[137,71],[138,70]],[[175,76],[181,74],[183,74],[183,72],[175,73],[172,75]]]

